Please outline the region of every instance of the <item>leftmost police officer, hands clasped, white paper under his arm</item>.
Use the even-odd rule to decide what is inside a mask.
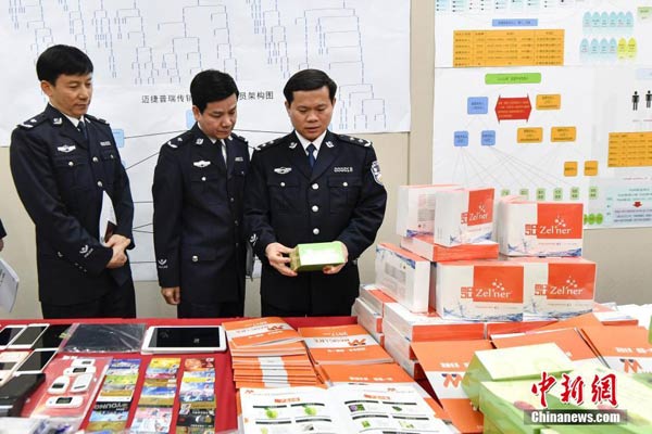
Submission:
[[[43,318],[136,317],[125,254],[134,203],[111,128],[87,114],[92,69],[77,48],[43,51],[36,71],[50,103],[11,137],[12,176],[36,226]]]

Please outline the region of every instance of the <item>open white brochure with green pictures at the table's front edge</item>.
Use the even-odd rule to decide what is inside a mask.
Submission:
[[[410,386],[242,388],[240,399],[246,434],[450,432]]]

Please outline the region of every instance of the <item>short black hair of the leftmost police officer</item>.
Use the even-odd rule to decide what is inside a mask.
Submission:
[[[38,56],[36,75],[40,81],[57,85],[60,75],[87,75],[92,73],[92,62],[77,47],[52,46]]]

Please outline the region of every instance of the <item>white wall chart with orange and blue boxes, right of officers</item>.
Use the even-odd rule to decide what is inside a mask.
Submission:
[[[434,182],[652,226],[652,3],[436,0]]]

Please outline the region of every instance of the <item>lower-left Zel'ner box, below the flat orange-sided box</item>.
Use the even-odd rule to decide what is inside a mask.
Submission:
[[[523,266],[511,261],[461,260],[436,267],[435,305],[444,319],[523,320]]]

